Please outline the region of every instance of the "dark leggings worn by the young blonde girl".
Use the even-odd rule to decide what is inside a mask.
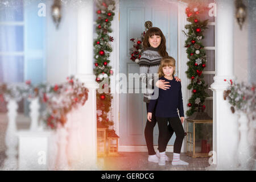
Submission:
[[[172,129],[175,132],[176,139],[174,142],[174,153],[180,154],[182,142],[184,139],[184,129],[179,117],[176,118],[158,118],[158,128],[159,128],[159,137],[158,137],[158,147],[159,152],[166,151],[166,140],[169,138],[170,132],[168,130],[168,122],[171,125]]]

